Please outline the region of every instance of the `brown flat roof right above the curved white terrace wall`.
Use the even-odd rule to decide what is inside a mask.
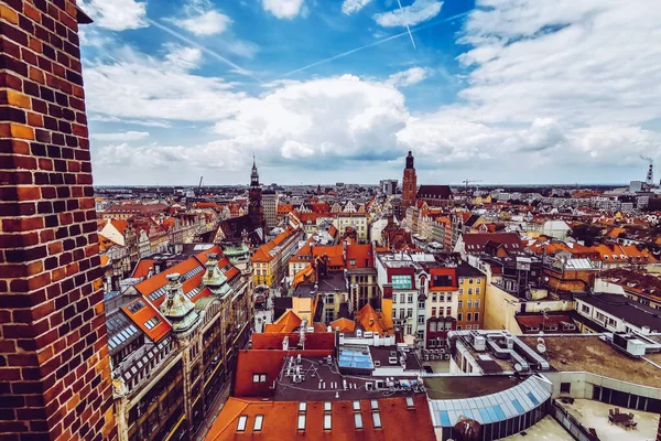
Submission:
[[[560,372],[589,372],[642,386],[661,387],[661,369],[644,359],[629,357],[599,338],[599,335],[544,335],[551,367]],[[538,336],[519,336],[537,352]],[[646,358],[661,358],[649,354]]]

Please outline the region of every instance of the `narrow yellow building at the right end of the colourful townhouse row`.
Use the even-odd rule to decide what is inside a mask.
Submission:
[[[485,324],[487,277],[477,268],[463,262],[457,267],[457,331],[481,330]]]

